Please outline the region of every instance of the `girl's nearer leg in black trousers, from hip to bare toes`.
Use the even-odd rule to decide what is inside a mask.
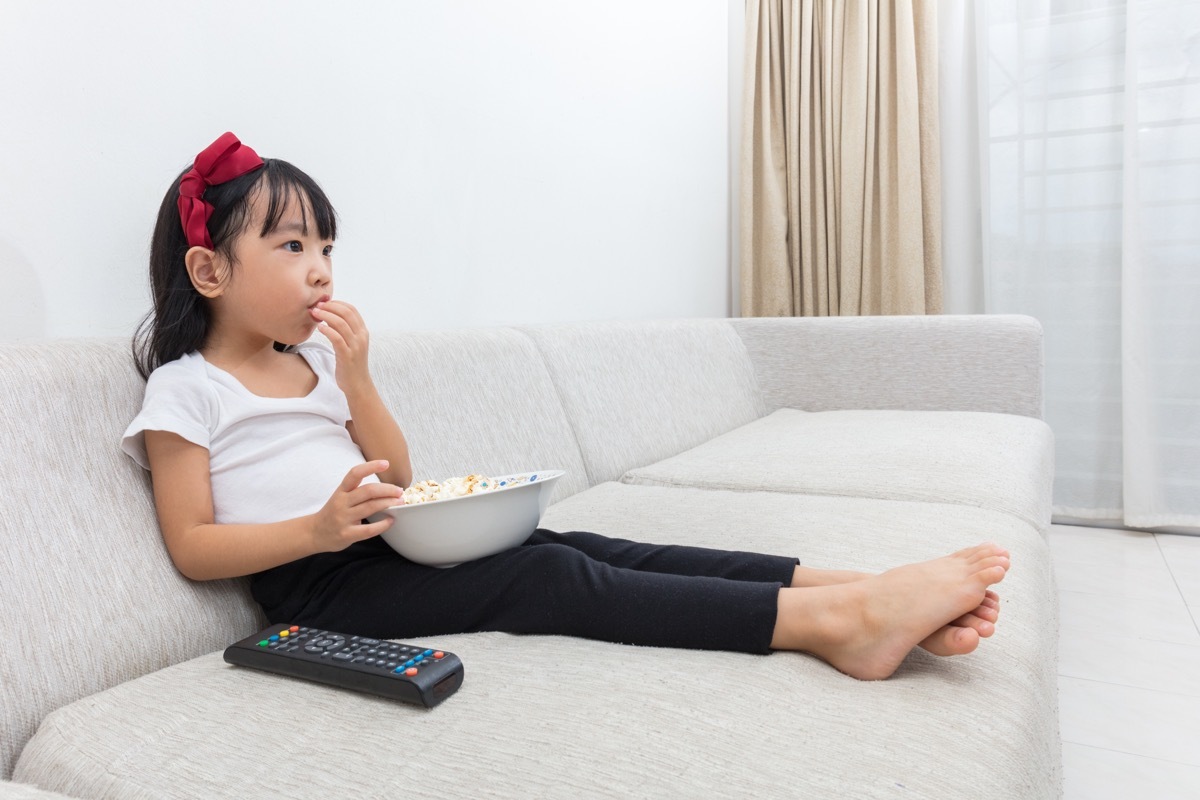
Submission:
[[[437,570],[383,542],[302,559],[256,576],[271,621],[379,638],[467,631],[558,633],[612,642],[812,652],[862,679],[886,678],[917,645],[979,642],[953,622],[1003,579],[1008,553],[984,545],[832,587],[686,577],[613,567],[560,545],[520,547]]]

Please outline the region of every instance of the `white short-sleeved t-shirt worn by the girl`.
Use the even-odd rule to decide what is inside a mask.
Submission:
[[[190,353],[146,381],[142,411],[121,450],[149,469],[145,431],[169,431],[209,451],[214,522],[266,523],[313,513],[346,473],[366,461],[350,439],[350,409],[334,377],[334,350],[319,339],[295,348],[317,373],[305,397],[259,397]],[[365,482],[378,481],[368,475]]]

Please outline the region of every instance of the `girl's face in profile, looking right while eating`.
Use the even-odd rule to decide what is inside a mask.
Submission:
[[[236,265],[214,307],[215,321],[226,333],[299,344],[317,327],[312,307],[332,297],[334,242],[317,233],[311,207],[301,213],[299,198],[265,236],[258,235],[266,212],[263,192],[251,197],[250,210],[250,224],[234,243]]]

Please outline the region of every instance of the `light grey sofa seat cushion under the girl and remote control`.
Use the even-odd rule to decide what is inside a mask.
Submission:
[[[433,710],[232,667],[220,652],[49,715],[17,780],[80,796],[1057,796],[1056,612],[1042,536],[950,504],[605,483],[546,527],[878,570],[1008,547],[997,633],[862,682],[754,656],[476,633]],[[163,765],[170,780],[163,780]],[[902,788],[901,788],[902,787]]]

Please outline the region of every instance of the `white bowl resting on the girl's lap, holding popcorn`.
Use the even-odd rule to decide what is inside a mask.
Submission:
[[[550,493],[563,470],[498,475],[509,483],[491,492],[446,500],[392,506],[384,515],[396,522],[380,536],[409,561],[450,567],[516,547],[538,528]]]

